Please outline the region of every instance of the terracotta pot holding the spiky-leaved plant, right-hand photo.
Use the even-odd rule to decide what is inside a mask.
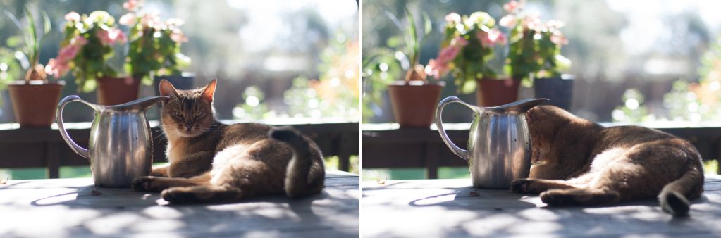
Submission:
[[[402,128],[429,128],[443,87],[443,81],[423,85],[407,85],[398,81],[388,85],[396,122]]]

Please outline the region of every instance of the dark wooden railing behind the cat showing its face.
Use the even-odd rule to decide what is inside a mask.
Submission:
[[[288,119],[291,120],[291,119]],[[234,123],[234,121],[224,121]],[[154,138],[154,162],[166,162],[167,140],[156,121],[151,121]],[[271,123],[288,125],[288,123]],[[65,123],[76,143],[87,147],[90,123]],[[339,157],[339,169],[348,171],[350,156],[358,154],[358,123],[292,124],[294,128],[313,138],[325,157]],[[58,132],[50,128],[19,128],[17,124],[0,124],[0,168],[47,167],[48,177],[57,178],[61,166],[88,165],[87,159],[71,151]]]

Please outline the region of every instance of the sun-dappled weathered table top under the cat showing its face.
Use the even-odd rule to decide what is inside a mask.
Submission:
[[[0,185],[0,237],[358,237],[358,175],[327,173],[320,195],[170,206],[92,179]],[[95,194],[95,195],[94,195]]]

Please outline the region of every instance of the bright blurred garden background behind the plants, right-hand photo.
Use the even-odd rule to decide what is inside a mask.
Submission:
[[[401,34],[384,12],[402,14],[404,7],[428,12],[433,31],[421,46],[420,63],[438,54],[443,34],[443,17],[450,12],[471,14],[483,11],[495,19],[503,17],[505,0],[366,0],[361,17],[363,56],[376,56],[392,38]],[[715,120],[721,74],[713,72],[720,61],[717,36],[721,35],[721,15],[713,9],[720,1],[671,0],[527,0],[526,12],[536,12],[541,21],[559,19],[569,45],[562,55],[572,61],[575,74],[572,113],[596,121]],[[504,29],[505,30],[505,29]],[[506,33],[507,30],[505,30]],[[392,52],[380,52],[392,58]],[[497,52],[505,56],[503,50]],[[366,61],[366,58],[363,58]],[[502,72],[502,64],[495,71]],[[397,66],[376,69],[398,79]],[[700,69],[700,70],[699,70]],[[363,75],[368,75],[363,72]],[[451,77],[446,77],[451,80]],[[714,82],[716,81],[716,82]],[[387,97],[379,103],[366,100],[369,92],[383,87],[363,78],[363,122],[392,121]],[[631,92],[627,92],[632,89]],[[456,95],[453,84],[446,84],[442,97]],[[474,94],[461,95],[474,102]],[[521,88],[521,97],[533,97],[532,89]],[[639,101],[641,99],[641,101]],[[631,100],[631,102],[628,102]],[[634,106],[637,109],[627,107]],[[641,109],[642,108],[642,109]],[[469,122],[471,113],[449,107],[448,122]],[[624,111],[625,110],[625,111]],[[698,113],[698,114],[696,114]],[[616,118],[614,117],[621,117]],[[446,119],[448,118],[448,119]]]

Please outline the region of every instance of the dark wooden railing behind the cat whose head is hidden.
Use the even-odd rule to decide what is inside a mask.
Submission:
[[[691,141],[704,159],[721,158],[721,124],[668,122],[640,125]],[[443,128],[446,128],[448,136],[455,144],[461,148],[466,147],[469,123],[443,123]],[[361,131],[363,169],[421,167],[426,169],[426,177],[433,179],[438,178],[438,167],[468,166],[465,160],[457,157],[443,144],[435,125],[431,128],[399,128],[397,124],[363,124]]]

